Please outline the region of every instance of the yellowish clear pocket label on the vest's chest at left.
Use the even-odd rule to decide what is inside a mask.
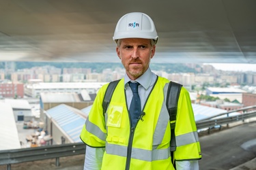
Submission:
[[[107,110],[108,120],[106,126],[120,127],[122,122],[123,107],[119,105],[109,105]]]

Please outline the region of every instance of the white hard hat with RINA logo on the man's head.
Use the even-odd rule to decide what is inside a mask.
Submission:
[[[156,27],[147,14],[141,12],[128,13],[117,22],[113,40],[124,38],[145,38],[158,40]]]

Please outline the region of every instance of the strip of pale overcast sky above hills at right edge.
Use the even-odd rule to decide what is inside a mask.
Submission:
[[[205,65],[212,65],[215,69],[225,71],[255,71],[256,64],[224,64],[224,63],[209,63]]]

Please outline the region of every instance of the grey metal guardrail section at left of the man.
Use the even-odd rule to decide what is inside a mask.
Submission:
[[[68,143],[16,150],[0,150],[0,165],[7,165],[7,169],[10,170],[11,165],[14,163],[56,158],[55,165],[58,167],[60,157],[77,154],[85,154],[85,143]]]

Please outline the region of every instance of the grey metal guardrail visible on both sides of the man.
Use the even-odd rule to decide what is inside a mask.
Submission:
[[[211,129],[214,126],[229,124],[231,122],[237,122],[240,120],[245,120],[247,118],[252,118],[256,116],[256,110],[246,112],[248,109],[254,109],[256,105],[251,107],[244,107],[241,109],[236,109],[231,112],[226,112],[223,114],[218,114],[200,120],[196,122],[197,129]],[[243,114],[236,116],[229,116],[233,112],[243,111]],[[217,118],[219,116],[227,115],[225,118]],[[212,119],[216,118],[216,119]],[[68,143],[62,145],[53,146],[40,146],[35,148],[23,148],[17,150],[0,150],[0,165],[7,165],[7,169],[11,170],[11,165],[15,163],[24,163],[33,160],[44,160],[49,158],[56,158],[55,165],[59,166],[59,158],[64,156],[72,156],[78,154],[85,154],[85,143]]]

